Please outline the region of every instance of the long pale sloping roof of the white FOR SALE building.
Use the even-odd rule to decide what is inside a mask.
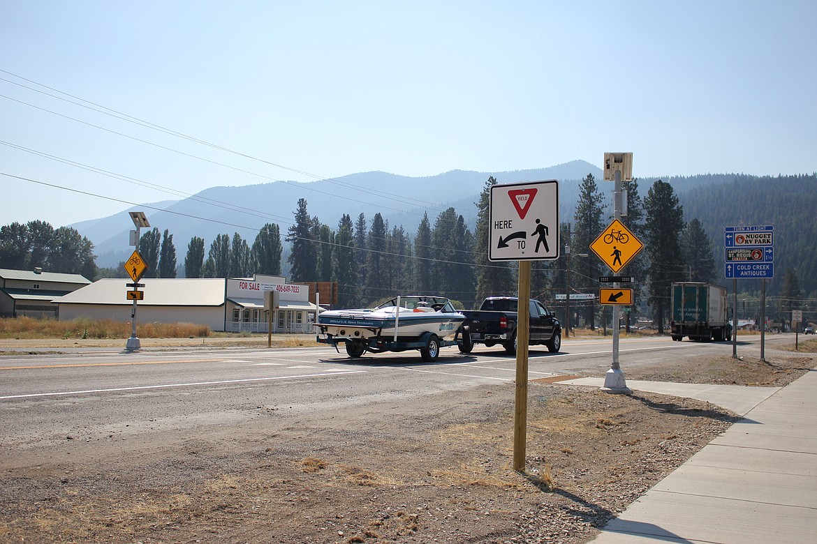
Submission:
[[[132,304],[126,299],[126,284],[130,278],[105,278],[95,281],[64,297],[58,304]],[[145,292],[140,306],[222,306],[225,303],[227,281],[224,278],[142,278]]]

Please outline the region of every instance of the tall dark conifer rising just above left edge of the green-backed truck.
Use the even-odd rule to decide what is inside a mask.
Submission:
[[[684,210],[672,185],[660,179],[647,192],[644,210],[645,249],[650,255],[649,302],[655,312],[659,334],[663,334],[672,282],[684,279],[680,241],[684,229]]]

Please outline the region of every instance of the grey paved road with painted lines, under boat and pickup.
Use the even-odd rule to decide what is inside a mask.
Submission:
[[[742,343],[758,338],[741,338]],[[530,352],[529,378],[603,376],[611,339],[571,339],[563,352]],[[623,339],[627,368],[656,360],[731,355],[727,343]],[[756,351],[756,350],[753,350]],[[195,349],[139,353],[81,352],[0,357],[0,446],[6,451],[66,436],[134,437],[247,422],[265,410],[302,414],[382,400],[415,400],[515,378],[516,360],[501,347],[463,355],[444,348],[435,363],[417,352],[350,360],[331,348]]]

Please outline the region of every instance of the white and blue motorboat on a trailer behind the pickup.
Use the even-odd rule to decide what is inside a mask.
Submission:
[[[422,360],[431,361],[440,347],[470,342],[460,331],[465,319],[444,297],[401,295],[371,309],[322,312],[315,326],[319,343],[336,349],[345,343],[350,357],[418,349]]]

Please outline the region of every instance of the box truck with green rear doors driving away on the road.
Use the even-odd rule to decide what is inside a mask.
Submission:
[[[699,342],[723,342],[732,336],[726,288],[699,281],[672,284],[670,334],[677,342],[688,336]]]

